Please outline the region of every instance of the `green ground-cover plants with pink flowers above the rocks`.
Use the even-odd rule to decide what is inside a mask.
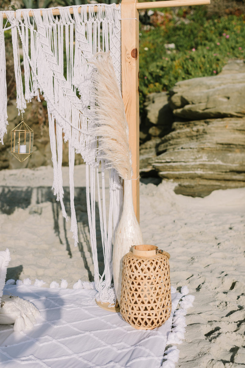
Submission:
[[[164,8],[140,15],[141,113],[149,93],[217,75],[228,59],[244,59],[245,14],[234,4],[217,9],[210,14],[208,6]]]

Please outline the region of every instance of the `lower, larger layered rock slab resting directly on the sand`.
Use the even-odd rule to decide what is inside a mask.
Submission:
[[[177,179],[176,193],[204,197],[245,186],[245,118],[176,122],[162,138],[152,167]]]

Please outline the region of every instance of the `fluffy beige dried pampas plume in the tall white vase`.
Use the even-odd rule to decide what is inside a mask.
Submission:
[[[100,158],[106,159],[124,180],[130,180],[133,171],[129,127],[110,53],[97,53],[89,63],[96,69],[92,78],[97,102],[95,134],[99,137]]]

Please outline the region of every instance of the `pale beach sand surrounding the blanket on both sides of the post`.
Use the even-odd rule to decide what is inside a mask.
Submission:
[[[69,206],[68,167],[63,173]],[[62,278],[68,287],[91,279],[84,173],[84,165],[75,167],[81,243],[74,248],[70,223],[51,191],[53,169],[0,171],[0,250],[10,249],[8,278],[39,279],[47,287]],[[245,367],[245,188],[191,198],[173,187],[141,184],[140,224],[146,244],[171,254],[172,285],[187,285],[195,296],[176,367]]]

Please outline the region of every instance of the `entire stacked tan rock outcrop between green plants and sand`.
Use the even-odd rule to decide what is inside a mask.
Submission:
[[[232,60],[221,75],[176,83],[168,102],[174,123],[157,122],[160,94],[152,96],[158,111],[151,111],[154,104],[148,99],[148,120],[161,127],[162,136],[141,145],[141,175],[172,179],[176,193],[194,197],[245,186],[244,69],[243,61]],[[166,95],[163,106],[167,109]],[[165,124],[172,129],[167,134]]]

